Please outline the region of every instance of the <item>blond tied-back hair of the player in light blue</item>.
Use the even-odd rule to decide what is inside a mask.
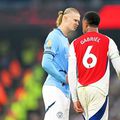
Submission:
[[[58,12],[58,17],[57,17],[57,20],[56,20],[56,26],[57,27],[62,23],[63,15],[69,14],[70,12],[79,13],[79,11],[75,8],[66,8],[64,11],[59,11]]]

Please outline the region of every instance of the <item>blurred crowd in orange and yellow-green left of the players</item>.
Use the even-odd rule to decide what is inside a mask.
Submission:
[[[0,41],[0,120],[28,120],[30,111],[40,109],[45,76],[41,57],[36,40],[21,45]]]

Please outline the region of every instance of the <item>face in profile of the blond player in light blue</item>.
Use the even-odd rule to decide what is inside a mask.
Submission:
[[[66,27],[69,31],[75,31],[80,23],[80,14],[71,12],[66,16]]]

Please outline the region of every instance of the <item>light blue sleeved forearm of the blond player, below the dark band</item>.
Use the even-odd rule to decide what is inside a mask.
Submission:
[[[52,75],[56,80],[66,83],[65,76],[61,75],[60,72],[54,66],[52,55],[50,54],[43,55],[42,67],[48,74]]]

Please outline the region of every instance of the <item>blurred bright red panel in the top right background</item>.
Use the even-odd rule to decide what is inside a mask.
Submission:
[[[120,5],[106,5],[99,11],[100,29],[120,29]]]

